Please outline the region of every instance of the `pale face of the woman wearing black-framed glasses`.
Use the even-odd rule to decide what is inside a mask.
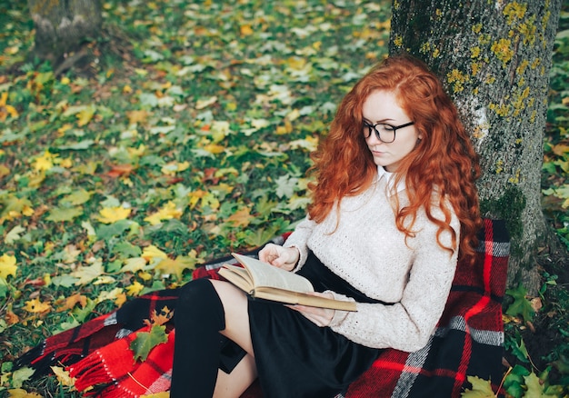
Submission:
[[[364,101],[362,114],[365,123],[372,125],[380,124],[377,125],[376,128],[385,141],[392,139],[393,131],[390,131],[389,126],[381,124],[398,126],[413,122],[397,104],[395,95],[387,91],[374,91],[371,95],[368,95]],[[364,128],[366,129],[365,133],[367,133],[367,127]],[[389,135],[391,135],[391,137]],[[414,125],[411,124],[396,129],[393,143],[386,144],[380,141],[373,129],[372,134],[369,134],[369,137],[365,138],[365,143],[374,156],[374,163],[384,166],[385,170],[393,173],[397,171],[401,160],[413,151],[417,141],[421,138],[422,137],[417,134]]]

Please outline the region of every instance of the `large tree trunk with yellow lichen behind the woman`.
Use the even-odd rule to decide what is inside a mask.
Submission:
[[[422,58],[454,98],[476,151],[484,216],[506,220],[509,285],[535,293],[546,224],[541,169],[562,0],[394,0],[389,50]]]

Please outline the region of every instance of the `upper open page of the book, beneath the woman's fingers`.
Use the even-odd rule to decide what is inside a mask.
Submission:
[[[314,292],[314,287],[304,276],[284,271],[253,257],[235,253],[233,256],[249,270],[255,287],[272,286],[294,292]]]

